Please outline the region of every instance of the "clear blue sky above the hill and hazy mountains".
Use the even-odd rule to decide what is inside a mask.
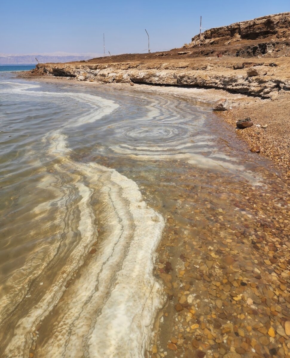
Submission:
[[[0,53],[142,53],[181,47],[202,27],[290,11],[289,0],[5,1]]]

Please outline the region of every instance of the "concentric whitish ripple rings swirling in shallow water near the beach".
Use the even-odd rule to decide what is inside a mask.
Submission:
[[[146,103],[146,97],[138,95]],[[210,134],[207,121],[211,107],[195,103],[190,110],[188,102],[181,101],[172,108],[167,97],[151,100],[144,105],[143,115],[136,112],[130,119],[111,118],[108,126],[99,127],[96,138],[102,147],[98,152],[138,160],[183,160],[199,168],[236,173],[252,185],[262,185],[256,174],[246,170],[243,161],[232,156],[228,147],[220,147]]]

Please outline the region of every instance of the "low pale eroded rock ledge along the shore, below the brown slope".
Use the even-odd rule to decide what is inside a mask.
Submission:
[[[249,65],[264,64],[261,76],[248,76]],[[204,62],[172,63],[94,63],[94,64],[39,64],[37,72],[60,77],[72,77],[78,81],[101,83],[130,82],[172,86],[194,86],[225,89],[251,96],[271,98],[279,91],[290,90],[290,76],[281,77],[276,64],[241,63],[238,69],[227,68],[221,63],[211,65]],[[264,75],[264,73],[266,73]],[[280,72],[280,71],[279,71]]]

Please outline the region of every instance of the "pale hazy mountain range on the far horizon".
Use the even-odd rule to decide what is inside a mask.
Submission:
[[[47,62],[71,62],[71,61],[83,61],[94,57],[100,57],[98,53],[65,53],[65,52],[54,52],[54,53],[41,53],[41,54],[4,54],[0,53],[0,64],[16,65],[16,64],[36,64],[38,59],[40,63]]]

